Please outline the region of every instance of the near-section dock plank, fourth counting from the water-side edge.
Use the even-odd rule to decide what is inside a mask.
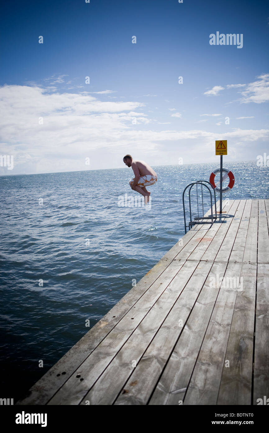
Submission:
[[[205,283],[212,262],[200,262],[115,404],[147,404]],[[182,268],[183,269],[183,268]]]

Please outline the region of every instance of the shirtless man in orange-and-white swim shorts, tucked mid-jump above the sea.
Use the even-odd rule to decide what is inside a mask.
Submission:
[[[123,162],[128,167],[133,168],[135,175],[129,181],[130,187],[145,197],[145,204],[149,203],[150,192],[147,191],[146,187],[154,185],[157,182],[157,174],[146,162],[135,161],[131,155],[125,155]]]

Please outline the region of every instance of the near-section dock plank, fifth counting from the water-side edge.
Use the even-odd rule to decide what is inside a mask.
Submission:
[[[187,324],[150,398],[150,405],[177,405],[179,401],[184,400],[227,264],[227,262],[213,264]],[[218,278],[214,280],[213,275],[215,277],[218,275]]]

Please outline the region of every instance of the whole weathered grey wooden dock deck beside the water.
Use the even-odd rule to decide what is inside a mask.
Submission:
[[[269,200],[229,200],[223,211],[222,223],[194,226],[17,404],[268,398]]]

